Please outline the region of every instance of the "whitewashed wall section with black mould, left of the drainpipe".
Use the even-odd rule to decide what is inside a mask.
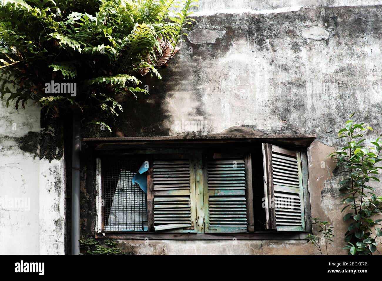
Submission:
[[[63,254],[63,149],[46,145],[58,129],[40,125],[38,106],[0,102],[0,254]],[[42,150],[57,159],[40,159]]]

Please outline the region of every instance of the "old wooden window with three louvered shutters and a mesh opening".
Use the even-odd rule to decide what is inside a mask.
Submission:
[[[214,235],[256,239],[249,234],[264,238],[309,231],[306,150],[287,147],[258,142],[243,147],[233,143],[230,149],[103,154],[97,158],[102,167],[97,169],[97,205],[102,212],[97,216],[96,236],[119,237],[108,234],[114,232],[141,239],[211,239]],[[131,178],[144,161],[149,164],[147,191],[142,192],[145,189],[131,184]]]

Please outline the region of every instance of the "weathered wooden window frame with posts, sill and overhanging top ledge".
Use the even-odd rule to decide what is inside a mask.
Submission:
[[[173,232],[155,232],[151,231],[151,227],[149,224],[149,231],[135,231],[135,232],[123,232],[123,231],[113,231],[113,232],[105,232],[102,231],[102,215],[103,215],[103,206],[102,206],[102,197],[100,193],[102,194],[102,174],[101,174],[101,160],[100,158],[102,156],[112,156],[115,155],[131,155],[131,154],[154,154],[155,152],[158,153],[200,153],[201,151],[198,151],[198,146],[192,146],[189,145],[183,146],[182,148],[177,149],[170,149],[167,147],[168,143],[171,143],[172,141],[167,141],[167,139],[170,138],[171,140],[178,142],[179,140],[184,140],[185,143],[189,144],[198,144],[198,139],[204,140],[205,138],[197,138],[197,137],[151,137],[151,138],[88,138],[84,139],[87,143],[90,144],[95,150],[95,156],[96,158],[96,184],[97,184],[97,195],[96,195],[96,208],[97,208],[97,217],[95,219],[95,238],[99,239],[153,239],[153,240],[162,240],[162,239],[180,239],[180,240],[210,240],[210,239],[217,239],[217,240],[225,240],[225,239],[244,239],[244,240],[251,240],[251,239],[305,239],[306,233],[311,232],[311,212],[310,212],[310,196],[308,191],[308,158],[306,154],[306,148],[312,143],[312,141],[316,138],[315,135],[280,135],[280,137],[277,137],[277,135],[260,135],[260,136],[218,136],[217,138],[207,138],[207,144],[210,143],[230,143],[231,145],[235,146],[238,145],[236,143],[244,143],[244,145],[254,145],[255,143],[259,145],[261,142],[269,142],[274,143],[278,146],[286,145],[286,148],[295,149],[301,152],[301,162],[302,162],[302,173],[303,173],[303,186],[304,186],[304,205],[306,208],[306,230],[305,232],[276,232],[276,231],[255,231],[255,232],[227,232],[227,233],[205,233],[204,232],[204,223],[202,220],[203,212],[203,206],[201,208],[197,208],[197,233],[173,233]],[[128,149],[125,150],[124,148],[121,148],[121,143],[123,143],[122,146],[128,145],[128,143],[134,142],[140,143],[140,141],[143,141],[146,145],[147,142],[153,141],[155,143],[154,146],[158,145],[158,140],[161,139],[159,143],[167,143],[165,147],[161,148],[149,148],[149,147],[142,147],[137,146],[134,149]],[[195,140],[196,139],[196,140]],[[211,140],[212,139],[212,140]],[[190,141],[191,140],[191,141]],[[243,142],[244,140],[244,142]],[[183,141],[182,141],[183,142]],[[200,142],[201,143],[201,142]],[[118,144],[115,146],[115,144]],[[237,146],[240,147],[240,146]],[[122,152],[122,153],[121,153]],[[248,156],[247,156],[248,157]],[[250,157],[250,155],[249,155]],[[202,166],[202,159],[199,159],[199,165]],[[248,161],[248,160],[247,160]],[[150,161],[152,162],[152,161]],[[197,161],[196,161],[197,162]],[[251,161],[249,161],[251,162]],[[247,169],[247,168],[246,168]],[[197,169],[197,171],[200,171],[200,169]],[[248,171],[251,171],[251,167],[248,167]],[[199,175],[199,180],[202,182],[203,179],[200,178],[202,175]],[[151,170],[149,168],[148,177],[152,177],[152,166]],[[196,175],[196,178],[198,175]],[[251,180],[252,173],[246,173],[246,177]],[[198,186],[198,185],[197,185]],[[199,185],[200,187],[200,185]],[[152,186],[149,184],[147,185],[147,189],[150,190]],[[201,189],[198,190],[198,187],[196,189],[196,197],[203,196],[203,187],[201,185]],[[249,196],[249,194],[246,196]],[[148,197],[147,200],[153,200],[153,198]],[[198,200],[198,199],[197,199]],[[203,201],[203,200],[199,200]],[[249,204],[248,206],[251,206],[253,208],[253,204]],[[147,214],[149,216],[150,213],[149,204],[147,206]],[[199,210],[201,209],[201,210]],[[253,211],[252,211],[253,212]],[[151,213],[150,213],[151,215]],[[153,221],[153,220],[151,220]],[[150,220],[149,220],[150,223]],[[248,221],[249,224],[250,221]]]

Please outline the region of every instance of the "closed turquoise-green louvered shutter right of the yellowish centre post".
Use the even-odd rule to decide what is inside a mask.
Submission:
[[[206,159],[205,162],[206,232],[246,232],[248,221],[252,222],[249,227],[251,230],[253,228],[253,211],[251,214],[247,214],[249,198],[246,197],[246,172],[248,171],[246,171],[243,154],[231,157],[215,154],[214,158]],[[249,171],[249,173],[251,172]],[[252,189],[250,194],[252,195]],[[252,202],[252,198],[250,200]]]

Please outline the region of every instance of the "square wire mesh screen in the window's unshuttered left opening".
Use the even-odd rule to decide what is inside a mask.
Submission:
[[[146,158],[103,158],[104,231],[143,231],[147,225],[146,193],[131,179]]]

